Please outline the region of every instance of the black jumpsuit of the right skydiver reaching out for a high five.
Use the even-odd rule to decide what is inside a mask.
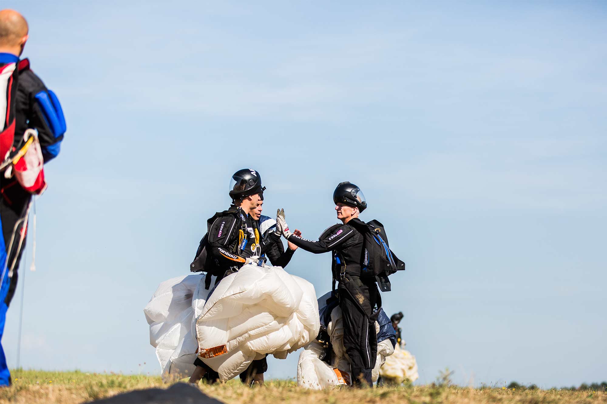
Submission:
[[[358,218],[351,219],[351,221]],[[377,355],[374,312],[379,291],[374,280],[362,280],[363,236],[349,224],[329,227],[319,240],[291,235],[288,241],[314,254],[333,252],[333,277],[339,282],[339,307],[344,319],[344,348],[350,357],[354,385],[372,385],[371,369]],[[381,301],[381,300],[380,300]],[[381,303],[379,303],[381,305]]]

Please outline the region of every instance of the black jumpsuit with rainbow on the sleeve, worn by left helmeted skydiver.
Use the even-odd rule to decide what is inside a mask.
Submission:
[[[209,254],[220,268],[220,275],[215,280],[215,284],[229,273],[238,271],[245,264],[246,258],[263,254],[274,243],[280,243],[280,235],[274,232],[262,238],[259,234],[259,224],[239,207],[231,206],[226,212],[229,213],[215,215],[209,223]],[[219,379],[219,374],[199,358],[194,361],[194,365],[206,369],[205,379],[209,382]],[[268,370],[268,362],[265,358],[254,360],[240,374],[240,380],[245,382],[251,375],[261,374],[266,370]]]

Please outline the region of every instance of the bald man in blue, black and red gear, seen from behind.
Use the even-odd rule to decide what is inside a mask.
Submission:
[[[4,243],[0,247],[0,338],[15,295],[32,194],[40,195],[46,189],[43,164],[58,155],[66,132],[59,99],[32,72],[29,59],[19,59],[27,39],[25,18],[15,10],[0,10],[0,217]],[[10,383],[0,346],[0,386]]]

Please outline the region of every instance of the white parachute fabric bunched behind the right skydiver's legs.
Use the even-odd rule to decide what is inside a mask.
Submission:
[[[326,305],[327,298],[331,292],[318,299],[318,305],[322,308]],[[379,332],[379,324],[375,323],[375,330]],[[323,348],[320,343],[314,341],[305,346],[304,351],[299,354],[297,363],[297,385],[300,387],[321,390],[339,385],[351,384],[350,358],[344,348],[344,322],[342,311],[337,306],[331,311],[331,321],[327,325],[333,355],[331,365],[320,360]],[[378,343],[378,354],[375,368],[371,371],[371,379],[377,382],[379,368],[384,365],[388,356],[392,355],[394,348],[389,339]]]

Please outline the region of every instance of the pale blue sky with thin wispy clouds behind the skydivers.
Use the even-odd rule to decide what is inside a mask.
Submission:
[[[37,271],[30,245],[21,266],[25,368],[157,374],[143,307],[188,274],[231,173],[253,167],[266,213],[308,238],[336,222],[337,183],[364,190],[362,219],[407,263],[382,298],[419,382],[605,379],[603,2],[2,7],[29,20],[24,56],[68,125]],[[328,255],[287,270],[330,288]]]

